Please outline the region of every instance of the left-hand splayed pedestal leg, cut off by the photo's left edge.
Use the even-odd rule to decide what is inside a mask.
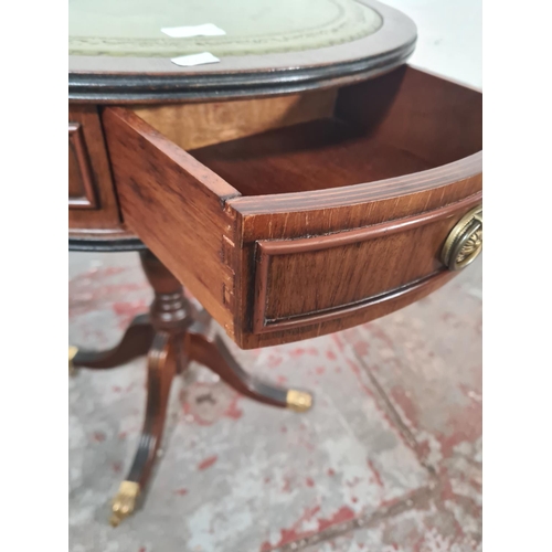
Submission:
[[[113,349],[107,351],[86,351],[70,348],[70,371],[72,368],[79,367],[106,369],[125,364],[136,357],[148,353],[153,341],[153,333],[149,315],[137,316],[125,331],[123,339]],[[73,358],[71,358],[72,353]]]

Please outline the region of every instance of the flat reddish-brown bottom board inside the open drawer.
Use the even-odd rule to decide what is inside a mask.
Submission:
[[[191,153],[243,195],[337,188],[435,166],[336,117],[217,144]]]

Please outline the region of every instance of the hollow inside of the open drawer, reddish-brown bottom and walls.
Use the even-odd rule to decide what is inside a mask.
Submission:
[[[302,109],[309,98],[321,105],[306,95]],[[341,88],[331,106],[326,99],[306,121],[184,149],[243,195],[380,181],[478,152],[481,94],[403,66]]]

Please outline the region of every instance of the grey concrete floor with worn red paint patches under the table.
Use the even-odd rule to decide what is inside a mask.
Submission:
[[[70,255],[72,343],[115,343],[150,299],[136,254]],[[230,346],[246,370],[312,390],[315,407],[256,404],[192,364],[147,501],[117,529],[109,501],[137,445],[145,360],[70,379],[72,552],[480,550],[480,262],[368,325]]]

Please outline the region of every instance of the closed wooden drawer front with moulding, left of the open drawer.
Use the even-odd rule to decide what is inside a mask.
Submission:
[[[120,224],[95,106],[70,106],[68,209],[70,229],[109,229]]]

